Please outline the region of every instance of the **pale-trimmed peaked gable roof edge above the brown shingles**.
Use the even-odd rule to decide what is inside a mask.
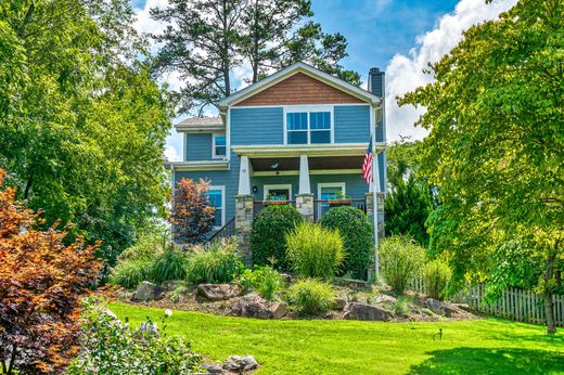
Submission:
[[[338,90],[342,90],[352,96],[359,98],[371,104],[376,104],[376,103],[382,102],[380,96],[374,95],[373,93],[371,93],[367,90],[363,90],[357,86],[350,85],[347,81],[344,81],[343,79],[335,78],[324,72],[319,70],[318,68],[312,67],[311,65],[299,62],[299,63],[292,64],[277,73],[268,76],[267,78],[227,96],[226,99],[223,99],[222,101],[219,102],[219,107],[227,108],[229,105],[236,104],[297,73],[303,73],[309,77],[318,79],[329,86],[332,86]]]

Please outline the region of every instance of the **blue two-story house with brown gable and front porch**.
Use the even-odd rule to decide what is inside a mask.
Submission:
[[[370,70],[368,89],[304,63],[277,72],[223,99],[219,117],[176,125],[184,158],[167,163],[174,185],[182,178],[209,181],[217,229],[244,220],[238,197],[245,198],[240,210],[255,214],[272,201],[297,203],[313,220],[336,199],[367,210],[367,193],[386,186],[383,72]],[[375,184],[361,171],[371,138]]]

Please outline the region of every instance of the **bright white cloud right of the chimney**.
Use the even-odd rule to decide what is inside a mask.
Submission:
[[[484,0],[461,0],[453,13],[440,17],[435,28],[416,38],[416,46],[408,56],[396,54],[386,67],[386,121],[387,139],[396,141],[400,135],[422,139],[427,131],[413,124],[423,108],[399,107],[396,96],[428,83],[432,77],[423,73],[428,62],[436,62],[462,39],[462,31],[510,9],[516,0],[495,0],[486,4]]]

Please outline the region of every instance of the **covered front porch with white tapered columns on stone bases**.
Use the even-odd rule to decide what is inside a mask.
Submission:
[[[383,236],[384,195],[377,193],[374,205],[373,184],[367,184],[361,176],[366,144],[341,146],[338,152],[306,146],[302,154],[296,154],[296,147],[272,148],[234,148],[240,156],[234,231],[248,258],[253,219],[269,205],[292,205],[311,221],[321,220],[336,206],[357,207],[370,218],[377,210],[379,237]]]

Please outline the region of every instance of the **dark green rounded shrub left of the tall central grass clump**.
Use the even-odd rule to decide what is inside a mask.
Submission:
[[[274,268],[287,271],[285,236],[300,221],[302,216],[292,206],[265,207],[253,221],[251,234],[253,263],[266,266],[273,259]]]

